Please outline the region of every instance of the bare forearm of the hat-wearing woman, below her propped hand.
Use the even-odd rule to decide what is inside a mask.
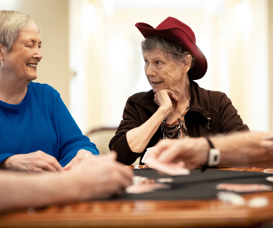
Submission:
[[[128,145],[133,152],[143,152],[161,122],[165,119],[167,112],[166,109],[159,107],[156,113],[144,124],[126,133]]]

